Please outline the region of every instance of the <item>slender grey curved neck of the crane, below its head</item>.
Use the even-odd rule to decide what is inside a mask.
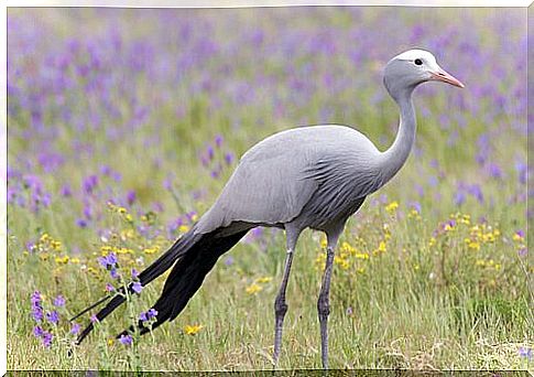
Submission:
[[[380,169],[384,183],[391,180],[404,165],[415,142],[416,120],[412,93],[413,88],[410,88],[392,96],[401,110],[401,120],[395,141],[382,153]]]

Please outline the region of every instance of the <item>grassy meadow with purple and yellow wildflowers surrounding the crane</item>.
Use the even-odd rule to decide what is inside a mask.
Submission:
[[[348,223],[330,366],[532,370],[526,10],[380,7],[9,9],[8,368],[272,368],[280,230],[252,230],[150,335],[115,338],[163,277],[78,347],[90,314],[68,319],[187,231],[264,137],[341,123],[386,149],[381,69],[415,46],[466,88],[416,90],[411,158]],[[280,368],[320,367],[324,243],[297,245]]]

